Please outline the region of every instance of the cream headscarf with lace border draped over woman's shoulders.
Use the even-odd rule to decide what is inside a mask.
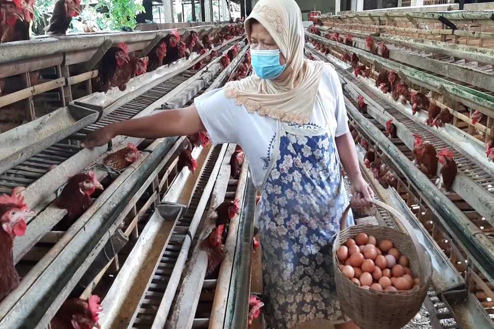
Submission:
[[[249,113],[257,111],[285,122],[309,123],[314,109],[324,63],[304,58],[302,13],[294,0],[260,0],[247,17],[250,43],[251,19],[269,32],[287,60],[283,73],[274,80],[253,74],[225,85],[225,96],[235,98]]]

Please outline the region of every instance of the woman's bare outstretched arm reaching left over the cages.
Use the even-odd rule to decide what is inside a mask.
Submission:
[[[136,119],[124,120],[107,125],[89,133],[82,147],[93,148],[107,144],[113,137],[156,139],[168,136],[184,136],[204,131],[206,128],[194,105],[179,110],[164,110]]]

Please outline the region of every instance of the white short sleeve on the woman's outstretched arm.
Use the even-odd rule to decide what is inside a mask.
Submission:
[[[225,97],[223,88],[196,97],[194,105],[212,144],[238,143],[238,105]]]

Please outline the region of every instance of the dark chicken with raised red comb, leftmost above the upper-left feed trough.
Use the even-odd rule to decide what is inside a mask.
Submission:
[[[98,66],[98,76],[91,79],[93,92],[108,92],[111,86],[111,79],[117,72],[117,69],[121,69],[130,61],[130,58],[121,46],[124,47],[123,44],[111,47],[105,55],[103,55],[101,63]]]

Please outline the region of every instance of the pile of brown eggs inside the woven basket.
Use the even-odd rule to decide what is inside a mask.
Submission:
[[[412,277],[407,256],[394,248],[391,240],[377,240],[359,233],[347,239],[336,251],[340,270],[355,285],[380,292],[407,291],[418,287]]]

